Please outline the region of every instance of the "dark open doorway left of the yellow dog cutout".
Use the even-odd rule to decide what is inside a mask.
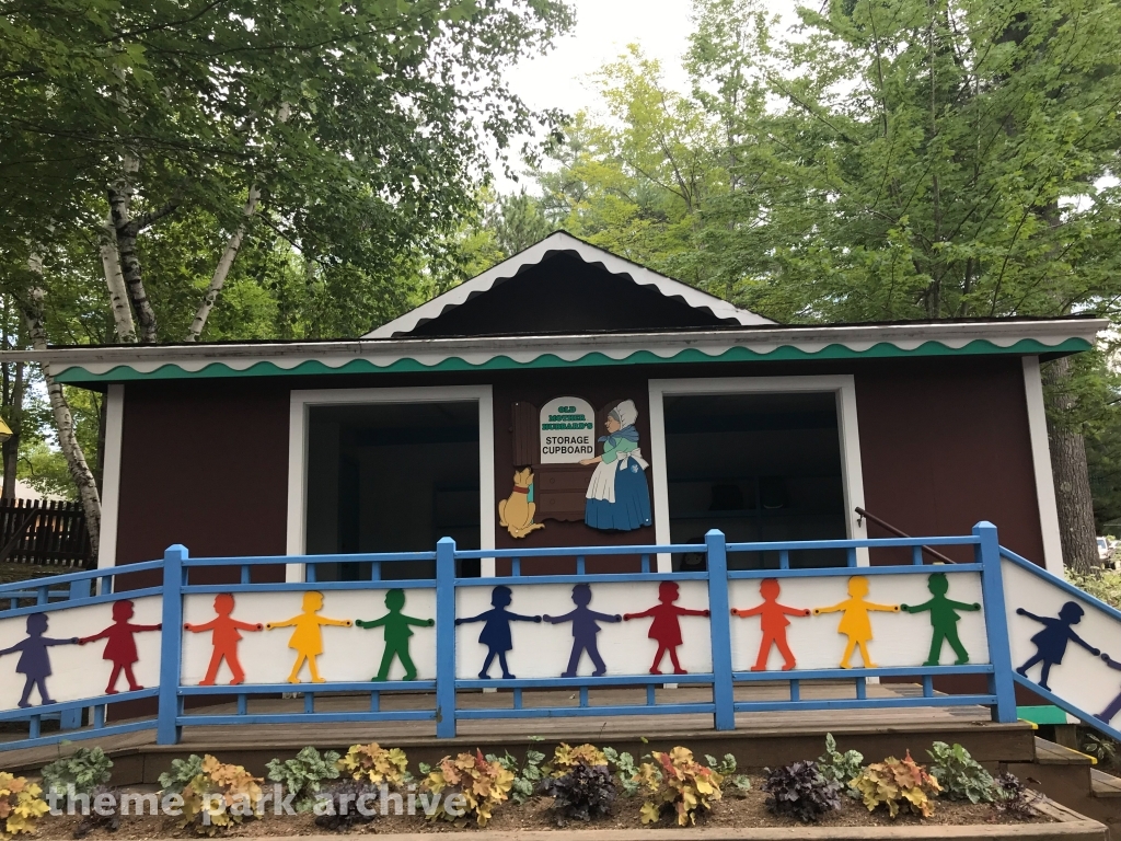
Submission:
[[[432,552],[441,537],[481,548],[479,404],[371,403],[307,409],[306,551]],[[385,580],[433,577],[432,562],[385,564]],[[461,575],[478,575],[464,562]],[[319,580],[363,580],[327,564]]]

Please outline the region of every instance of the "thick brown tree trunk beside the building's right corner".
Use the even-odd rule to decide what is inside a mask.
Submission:
[[[1063,357],[1045,366],[1043,382],[1047,397],[1047,437],[1055,475],[1063,561],[1075,572],[1087,573],[1096,569],[1100,561],[1086,445],[1082,434],[1066,422],[1075,404],[1069,386],[1071,358]]]

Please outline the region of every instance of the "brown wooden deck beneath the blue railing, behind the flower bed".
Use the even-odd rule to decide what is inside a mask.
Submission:
[[[921,688],[910,684],[869,684],[869,697],[916,696]],[[804,700],[853,697],[849,682],[805,682]],[[711,690],[704,686],[659,688],[658,703],[706,702]],[[738,701],[788,700],[786,683],[741,685]],[[576,692],[525,691],[525,706],[578,706]],[[590,693],[592,705],[645,703],[645,690],[604,688]],[[510,706],[508,692],[483,694],[464,692],[461,709]],[[382,710],[432,709],[428,693],[385,693]],[[250,713],[303,712],[302,697],[250,700]],[[324,696],[316,702],[318,712],[369,710],[367,695]],[[231,714],[234,703],[215,704],[192,714]],[[324,724],[245,724],[188,727],[183,741],[175,746],[155,743],[155,731],[143,731],[103,739],[71,742],[0,752],[0,767],[29,769],[65,755],[77,746],[99,745],[117,761],[114,779],[154,782],[175,757],[212,752],[225,761],[237,761],[260,773],[265,763],[291,756],[307,745],[321,749],[342,749],[355,742],[379,741],[405,748],[411,761],[434,761],[441,756],[482,748],[484,752],[509,749],[515,755],[541,742],[592,741],[619,750],[642,755],[686,745],[697,754],[734,754],[743,767],[785,764],[814,758],[823,752],[824,737],[832,732],[842,749],[855,748],[868,757],[901,756],[910,749],[925,757],[932,741],[961,742],[982,761],[1030,761],[1034,756],[1032,730],[1026,722],[995,724],[983,706],[886,708],[870,710],[824,710],[798,712],[739,713],[734,731],[712,729],[712,715],[600,715],[585,718],[494,719],[460,721],[455,739],[437,740],[435,722],[354,722]],[[0,741],[17,738],[0,734]],[[121,782],[124,782],[123,779]]]

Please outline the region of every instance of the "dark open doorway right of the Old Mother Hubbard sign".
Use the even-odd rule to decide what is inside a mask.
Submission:
[[[666,490],[673,543],[845,539],[847,511],[832,391],[667,394]],[[703,555],[674,556],[696,570]],[[790,565],[843,566],[845,552],[791,552]],[[734,553],[729,567],[777,569],[777,552]]]

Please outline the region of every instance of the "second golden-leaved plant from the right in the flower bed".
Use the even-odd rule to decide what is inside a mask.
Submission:
[[[721,798],[724,777],[693,758],[687,748],[674,748],[668,754],[654,751],[652,763],[638,767],[636,780],[646,793],[642,823],[655,823],[664,814],[676,815],[677,825],[695,825],[704,819],[712,804]]]

